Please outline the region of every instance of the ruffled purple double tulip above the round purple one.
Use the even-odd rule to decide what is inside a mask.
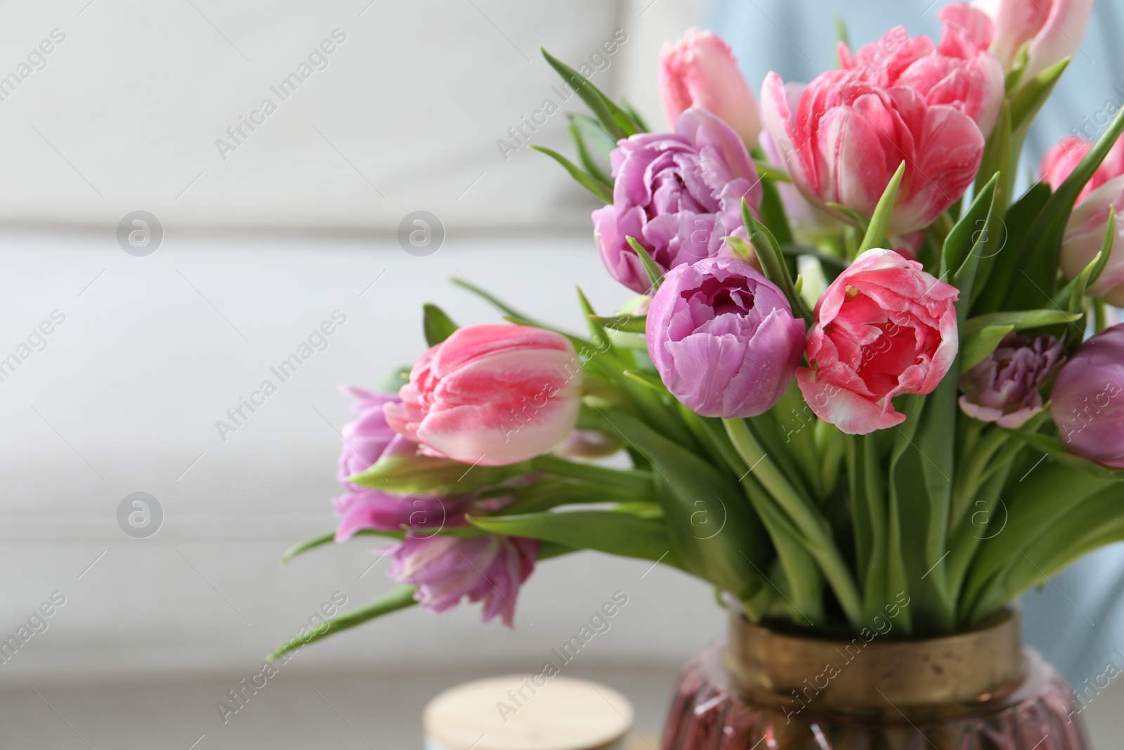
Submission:
[[[613,205],[593,211],[593,235],[609,274],[633,291],[651,287],[626,237],[661,271],[723,250],[723,237],[745,237],[742,198],[756,213],[761,186],[741,137],[708,111],[688,109],[674,133],[641,133],[611,154]],[[728,252],[728,251],[727,251]]]

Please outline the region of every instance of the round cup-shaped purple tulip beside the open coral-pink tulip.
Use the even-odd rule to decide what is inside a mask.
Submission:
[[[647,352],[668,390],[707,417],[771,408],[804,354],[804,322],[771,281],[736,257],[668,272],[647,314]]]

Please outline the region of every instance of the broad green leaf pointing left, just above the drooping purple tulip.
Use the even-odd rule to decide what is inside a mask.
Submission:
[[[577,550],[597,550],[624,558],[661,560],[681,567],[671,552],[662,521],[611,510],[570,510],[505,516],[469,516],[492,534],[543,539]]]

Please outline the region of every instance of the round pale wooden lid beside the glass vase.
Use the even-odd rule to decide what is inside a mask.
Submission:
[[[632,704],[616,690],[545,675],[465,683],[430,701],[424,714],[426,737],[445,750],[601,750],[619,742],[632,721]]]

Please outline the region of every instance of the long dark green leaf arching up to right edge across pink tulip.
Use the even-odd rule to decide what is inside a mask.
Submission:
[[[1073,210],[1078,195],[1093,178],[1093,173],[1121,133],[1124,133],[1124,109],[1116,114],[1097,143],[1059,186],[1058,191],[1050,196],[1034,219],[1019,249],[1015,266],[1018,269],[1018,275],[1004,307],[1015,309],[1043,307],[1053,297],[1058,281],[1058,255],[1066,223]]]

